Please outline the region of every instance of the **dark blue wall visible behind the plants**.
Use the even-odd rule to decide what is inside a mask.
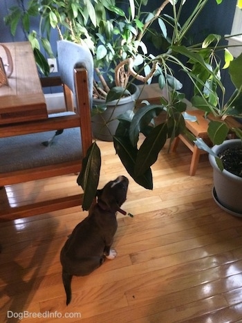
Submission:
[[[190,1],[196,0],[187,0],[185,3],[185,7],[183,13],[187,13],[189,15],[189,10],[191,10],[191,6],[189,6]],[[157,8],[162,0],[150,0],[149,1],[149,10],[153,10]],[[28,0],[24,0],[24,3],[28,3]],[[11,6],[16,6],[17,4],[20,5],[19,0],[0,0],[0,42],[8,42],[8,41],[25,41],[26,35],[24,35],[23,30],[19,26],[17,29],[17,34],[13,37],[10,33],[8,27],[5,26],[3,22],[3,17],[7,15],[8,8]],[[232,28],[232,20],[234,17],[234,8],[235,8],[236,0],[223,0],[221,5],[217,5],[215,0],[208,0],[205,9],[203,10],[203,15],[199,17],[199,19],[194,24],[192,30],[190,30],[190,36],[196,40],[202,40],[203,35],[207,35],[207,33],[217,33],[220,35],[230,34]],[[167,11],[167,8],[165,9]],[[184,16],[183,19],[185,20],[186,17]],[[38,30],[38,21],[37,19],[33,19],[31,21],[32,29]],[[57,33],[53,33],[52,45],[53,50],[56,50],[56,41],[57,41]],[[153,49],[152,52],[154,54],[158,54],[156,49]],[[187,98],[190,98],[192,95],[191,86],[185,80],[185,75],[180,74],[178,76],[181,79],[183,84],[186,83],[186,86],[183,86],[183,91],[185,91]],[[223,75],[223,80],[229,84],[229,78],[227,74]]]

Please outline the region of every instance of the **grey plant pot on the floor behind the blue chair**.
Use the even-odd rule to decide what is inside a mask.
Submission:
[[[130,84],[129,91],[131,92],[131,95],[121,98],[119,101],[114,100],[105,103],[104,100],[93,99],[93,105],[103,106],[106,104],[107,107],[104,113],[92,117],[93,136],[95,138],[104,141],[113,140],[113,135],[115,134],[119,123],[117,117],[128,110],[133,110],[134,104],[140,94],[140,90],[135,84]],[[107,120],[112,121],[106,124]]]

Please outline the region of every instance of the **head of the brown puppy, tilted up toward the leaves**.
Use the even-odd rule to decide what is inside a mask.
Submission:
[[[102,210],[117,212],[126,201],[129,180],[125,176],[118,176],[115,181],[107,183],[102,190],[97,190],[97,204]]]

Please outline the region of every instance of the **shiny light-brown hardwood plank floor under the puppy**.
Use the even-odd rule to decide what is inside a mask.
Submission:
[[[100,148],[102,187],[127,173],[111,142]],[[118,215],[118,257],[88,277],[73,277],[67,307],[59,251],[86,212],[75,207],[0,223],[0,322],[24,314],[21,322],[242,322],[242,219],[214,203],[207,156],[193,177],[190,161],[180,143],[153,166],[153,191],[130,180],[123,209],[134,217]],[[70,175],[6,190],[19,205],[80,187]]]

